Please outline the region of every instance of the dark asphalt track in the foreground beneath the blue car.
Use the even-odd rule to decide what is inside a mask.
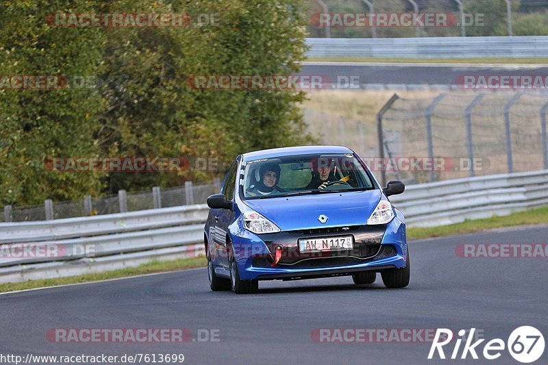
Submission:
[[[184,353],[185,364],[519,364],[506,350],[492,361],[428,361],[429,342],[320,343],[311,333],[475,327],[487,340],[506,342],[516,327],[533,325],[547,336],[547,258],[455,252],[460,243],[547,242],[547,226],[411,242],[411,284],[401,290],[385,289],[377,275],[366,286],[353,285],[351,277],[269,281],[260,283],[259,294],[236,295],[211,292],[200,268],[4,294],[0,353]],[[53,328],[186,328],[193,336],[218,329],[219,342],[58,343],[45,336]],[[453,346],[445,349],[449,357]],[[545,351],[536,364],[547,359]]]

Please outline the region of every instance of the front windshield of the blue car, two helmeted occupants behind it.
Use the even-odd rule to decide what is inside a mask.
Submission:
[[[247,162],[240,186],[245,199],[375,188],[352,153],[292,155]]]

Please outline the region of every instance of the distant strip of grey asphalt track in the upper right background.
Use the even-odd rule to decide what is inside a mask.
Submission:
[[[360,87],[373,85],[456,86],[462,75],[536,76],[548,75],[547,65],[487,65],[487,64],[397,64],[360,62],[303,62],[300,75],[327,75],[335,82],[338,77],[359,77]],[[342,87],[346,84],[341,83]],[[341,87],[339,86],[339,87]],[[336,85],[332,86],[337,87]]]

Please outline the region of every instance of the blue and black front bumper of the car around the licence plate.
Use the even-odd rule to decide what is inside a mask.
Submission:
[[[401,214],[382,226],[351,227],[343,231],[303,230],[279,234],[253,234],[238,230],[232,242],[236,264],[243,280],[308,279],[351,275],[360,271],[380,271],[406,266],[406,225]],[[333,229],[333,228],[332,228]],[[299,254],[299,238],[322,236],[354,236],[352,251],[329,252],[316,257]],[[286,253],[272,266],[275,247]]]

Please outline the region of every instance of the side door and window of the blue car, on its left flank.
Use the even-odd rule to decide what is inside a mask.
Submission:
[[[236,188],[236,175],[238,170],[238,162],[232,162],[221,194],[225,194],[227,200],[234,201],[234,191]],[[212,209],[212,223],[210,225],[210,237],[214,245],[214,253],[212,255],[213,264],[215,266],[223,266],[229,268],[228,252],[227,252],[227,233],[228,226],[234,221],[234,211],[228,209]]]

